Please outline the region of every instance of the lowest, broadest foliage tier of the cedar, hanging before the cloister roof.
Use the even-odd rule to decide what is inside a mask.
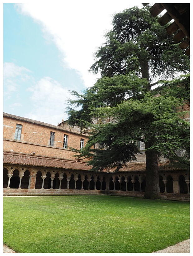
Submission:
[[[181,104],[181,100],[173,96],[154,97],[147,93],[140,100],[129,99],[115,107],[93,108],[95,115],[104,119],[113,116],[114,121],[93,126],[85,148],[75,151],[79,157],[89,159],[92,170],[115,166],[119,170],[135,160],[135,154],[139,154],[136,140],[148,142],[150,147],[146,150],[155,150],[170,160],[177,160],[179,151],[189,157],[190,126],[181,118],[185,112],[174,108]],[[96,143],[105,150],[93,149]]]

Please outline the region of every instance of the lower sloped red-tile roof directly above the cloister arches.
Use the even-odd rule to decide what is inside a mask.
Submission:
[[[17,153],[3,153],[3,163],[4,164],[14,164],[14,165],[29,165],[45,168],[61,168],[61,169],[71,169],[71,170],[91,170],[91,166],[86,163],[49,158],[35,155],[25,155]],[[185,170],[178,163],[170,162],[159,162],[158,163],[159,171],[176,171],[176,170]],[[103,172],[115,172],[111,170],[103,170]],[[146,164],[144,162],[140,163],[129,163],[126,167],[121,168],[119,172],[146,172]]]

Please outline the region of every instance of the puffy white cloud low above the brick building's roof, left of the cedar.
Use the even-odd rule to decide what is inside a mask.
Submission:
[[[28,118],[54,125],[67,118],[64,108],[72,96],[57,81],[44,77],[27,90],[32,93],[30,100],[33,106],[26,114]]]

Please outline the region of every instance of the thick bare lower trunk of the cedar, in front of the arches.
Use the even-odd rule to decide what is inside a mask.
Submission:
[[[145,143],[145,148],[150,145]],[[144,199],[161,199],[158,177],[158,154],[155,150],[147,150],[146,158],[146,187]]]

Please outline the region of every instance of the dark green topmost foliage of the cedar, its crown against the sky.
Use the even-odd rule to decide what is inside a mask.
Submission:
[[[149,7],[117,13],[112,24],[106,43],[96,52],[92,72],[111,77],[134,71],[151,82],[189,71],[189,58],[173,43],[166,27],[161,27],[158,18],[151,15]]]

